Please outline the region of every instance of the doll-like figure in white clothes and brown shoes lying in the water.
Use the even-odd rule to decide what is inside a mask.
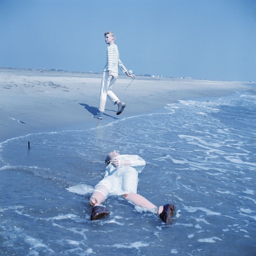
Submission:
[[[120,155],[110,152],[105,160],[107,165],[104,178],[95,186],[90,197],[90,204],[93,206],[91,220],[97,220],[110,211],[101,205],[108,195],[122,195],[124,199],[137,206],[148,209],[159,215],[166,223],[172,222],[175,211],[173,204],[162,205],[159,208],[137,194],[138,174],[142,172],[146,162],[137,155]]]

